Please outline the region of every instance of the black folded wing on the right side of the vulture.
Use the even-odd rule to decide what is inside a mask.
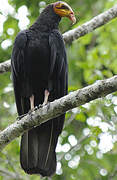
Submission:
[[[68,65],[64,41],[58,30],[53,30],[50,34],[49,45],[51,49],[49,77],[50,81],[52,76],[55,78],[55,89],[58,91],[54,98],[59,98],[67,94]]]

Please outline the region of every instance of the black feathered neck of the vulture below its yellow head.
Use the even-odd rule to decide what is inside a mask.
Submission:
[[[48,32],[53,29],[58,29],[61,17],[55,14],[52,6],[47,6],[40,14],[36,22],[30,27],[31,30]]]

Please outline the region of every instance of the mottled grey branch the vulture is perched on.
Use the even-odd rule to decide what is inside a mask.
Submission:
[[[51,102],[49,107],[46,105],[27,114],[20,121],[16,121],[0,133],[0,150],[13,139],[22,135],[25,131],[49,119],[55,118],[72,108],[83,105],[99,97],[104,97],[115,91],[117,91],[117,76],[97,81],[90,86],[74,91],[67,96]]]

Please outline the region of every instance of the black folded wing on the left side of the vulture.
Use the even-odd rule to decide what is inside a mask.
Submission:
[[[23,81],[25,77],[24,71],[24,58],[25,58],[25,48],[27,44],[26,32],[20,32],[14,42],[12,57],[11,57],[11,72],[12,80],[14,85],[15,99],[18,114],[21,115],[25,113],[24,100],[22,99],[23,94]]]

